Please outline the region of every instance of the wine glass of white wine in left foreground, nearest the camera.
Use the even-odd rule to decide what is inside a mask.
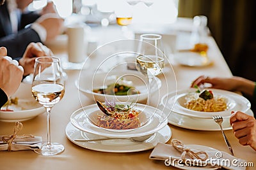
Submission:
[[[40,155],[57,155],[63,152],[64,146],[51,143],[51,108],[64,96],[65,86],[62,76],[60,59],[56,57],[38,57],[35,60],[32,81],[32,94],[38,103],[47,111],[47,142],[42,142],[40,150],[35,150]]]

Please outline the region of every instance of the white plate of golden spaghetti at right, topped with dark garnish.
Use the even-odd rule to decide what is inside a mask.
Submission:
[[[203,92],[211,97],[202,97]],[[214,115],[230,117],[231,111],[250,110],[250,101],[234,92],[220,89],[207,89],[203,92],[198,93],[196,89],[171,92],[161,99],[161,104],[167,108],[175,104],[172,110],[175,113],[198,118],[212,118]]]

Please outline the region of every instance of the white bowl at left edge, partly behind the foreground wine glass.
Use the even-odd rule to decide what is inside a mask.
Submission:
[[[21,83],[17,92],[12,96],[12,98],[15,97],[18,97],[18,104],[12,104],[8,107],[14,111],[0,111],[1,121],[16,122],[29,120],[45,112],[45,108],[33,99],[31,85]]]

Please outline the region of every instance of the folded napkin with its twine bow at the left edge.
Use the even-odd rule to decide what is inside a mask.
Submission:
[[[0,136],[0,150],[36,150],[41,148],[42,137],[33,135],[18,136],[22,123],[16,122],[12,135]]]

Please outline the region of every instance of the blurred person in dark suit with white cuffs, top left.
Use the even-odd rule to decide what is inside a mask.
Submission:
[[[44,43],[44,41],[55,38],[63,30],[63,19],[56,13],[53,3],[48,3],[40,15],[36,12],[23,13],[32,0],[16,0],[17,8],[19,8],[18,23],[17,32],[13,32],[8,2],[10,1],[0,6],[0,46],[5,46],[8,56],[13,59],[19,60],[29,43]],[[26,27],[28,24],[31,26]]]

